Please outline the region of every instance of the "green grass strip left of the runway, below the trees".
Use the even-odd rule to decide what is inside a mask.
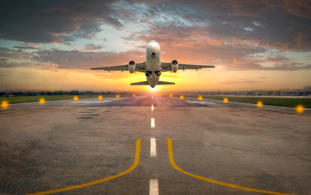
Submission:
[[[73,100],[75,95],[44,95],[44,96],[18,96],[18,97],[0,97],[0,102],[7,101],[8,104],[14,103],[26,103],[26,102],[39,102],[41,98],[45,101],[53,101],[53,100]],[[98,98],[99,95],[77,95],[78,99],[84,98]],[[102,95],[105,97],[115,97],[116,95]],[[125,95],[120,95],[125,96]]]

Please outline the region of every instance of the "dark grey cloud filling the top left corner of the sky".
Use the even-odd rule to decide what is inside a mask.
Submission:
[[[5,1],[0,8],[0,39],[52,43],[91,38],[100,31],[101,24],[123,26],[111,9],[112,3],[109,0]]]

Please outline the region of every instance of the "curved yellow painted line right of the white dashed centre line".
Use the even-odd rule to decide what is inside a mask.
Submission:
[[[273,192],[273,191],[267,191],[267,190],[260,190],[260,189],[255,189],[255,188],[248,188],[248,187],[244,187],[244,186],[238,186],[238,185],[234,185],[231,183],[225,183],[225,182],[221,182],[221,181],[217,181],[214,179],[208,179],[206,177],[202,177],[199,175],[195,175],[192,173],[189,173],[187,171],[184,171],[183,169],[179,168],[179,166],[177,166],[174,162],[173,159],[173,149],[172,149],[172,139],[167,139],[167,148],[168,148],[168,152],[169,152],[169,163],[172,165],[172,167],[174,167],[174,169],[178,170],[179,172],[182,172],[183,174],[189,175],[191,177],[197,178],[197,179],[201,179],[207,182],[211,182],[211,183],[216,183],[219,185],[223,185],[223,186],[227,186],[230,188],[238,188],[238,189],[242,189],[242,190],[248,190],[248,191],[253,191],[253,192],[260,192],[260,193],[267,193],[267,194],[277,194],[277,195],[294,195],[294,194],[288,194],[288,193],[280,193],[280,192]]]

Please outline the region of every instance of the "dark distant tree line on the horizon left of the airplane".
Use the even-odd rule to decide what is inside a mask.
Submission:
[[[107,91],[107,92],[94,92],[94,91],[78,91],[78,90],[73,90],[73,91],[40,91],[40,92],[34,92],[34,91],[27,91],[27,92],[12,92],[10,93],[12,95],[16,96],[37,96],[37,95],[116,95],[116,94],[130,94],[127,92],[121,92],[121,93],[116,93],[112,91]],[[0,97],[3,95],[6,95],[5,92],[0,92]]]

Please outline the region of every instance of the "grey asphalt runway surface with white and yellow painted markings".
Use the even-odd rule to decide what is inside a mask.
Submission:
[[[310,109],[150,95],[0,122],[0,194],[311,194]]]

